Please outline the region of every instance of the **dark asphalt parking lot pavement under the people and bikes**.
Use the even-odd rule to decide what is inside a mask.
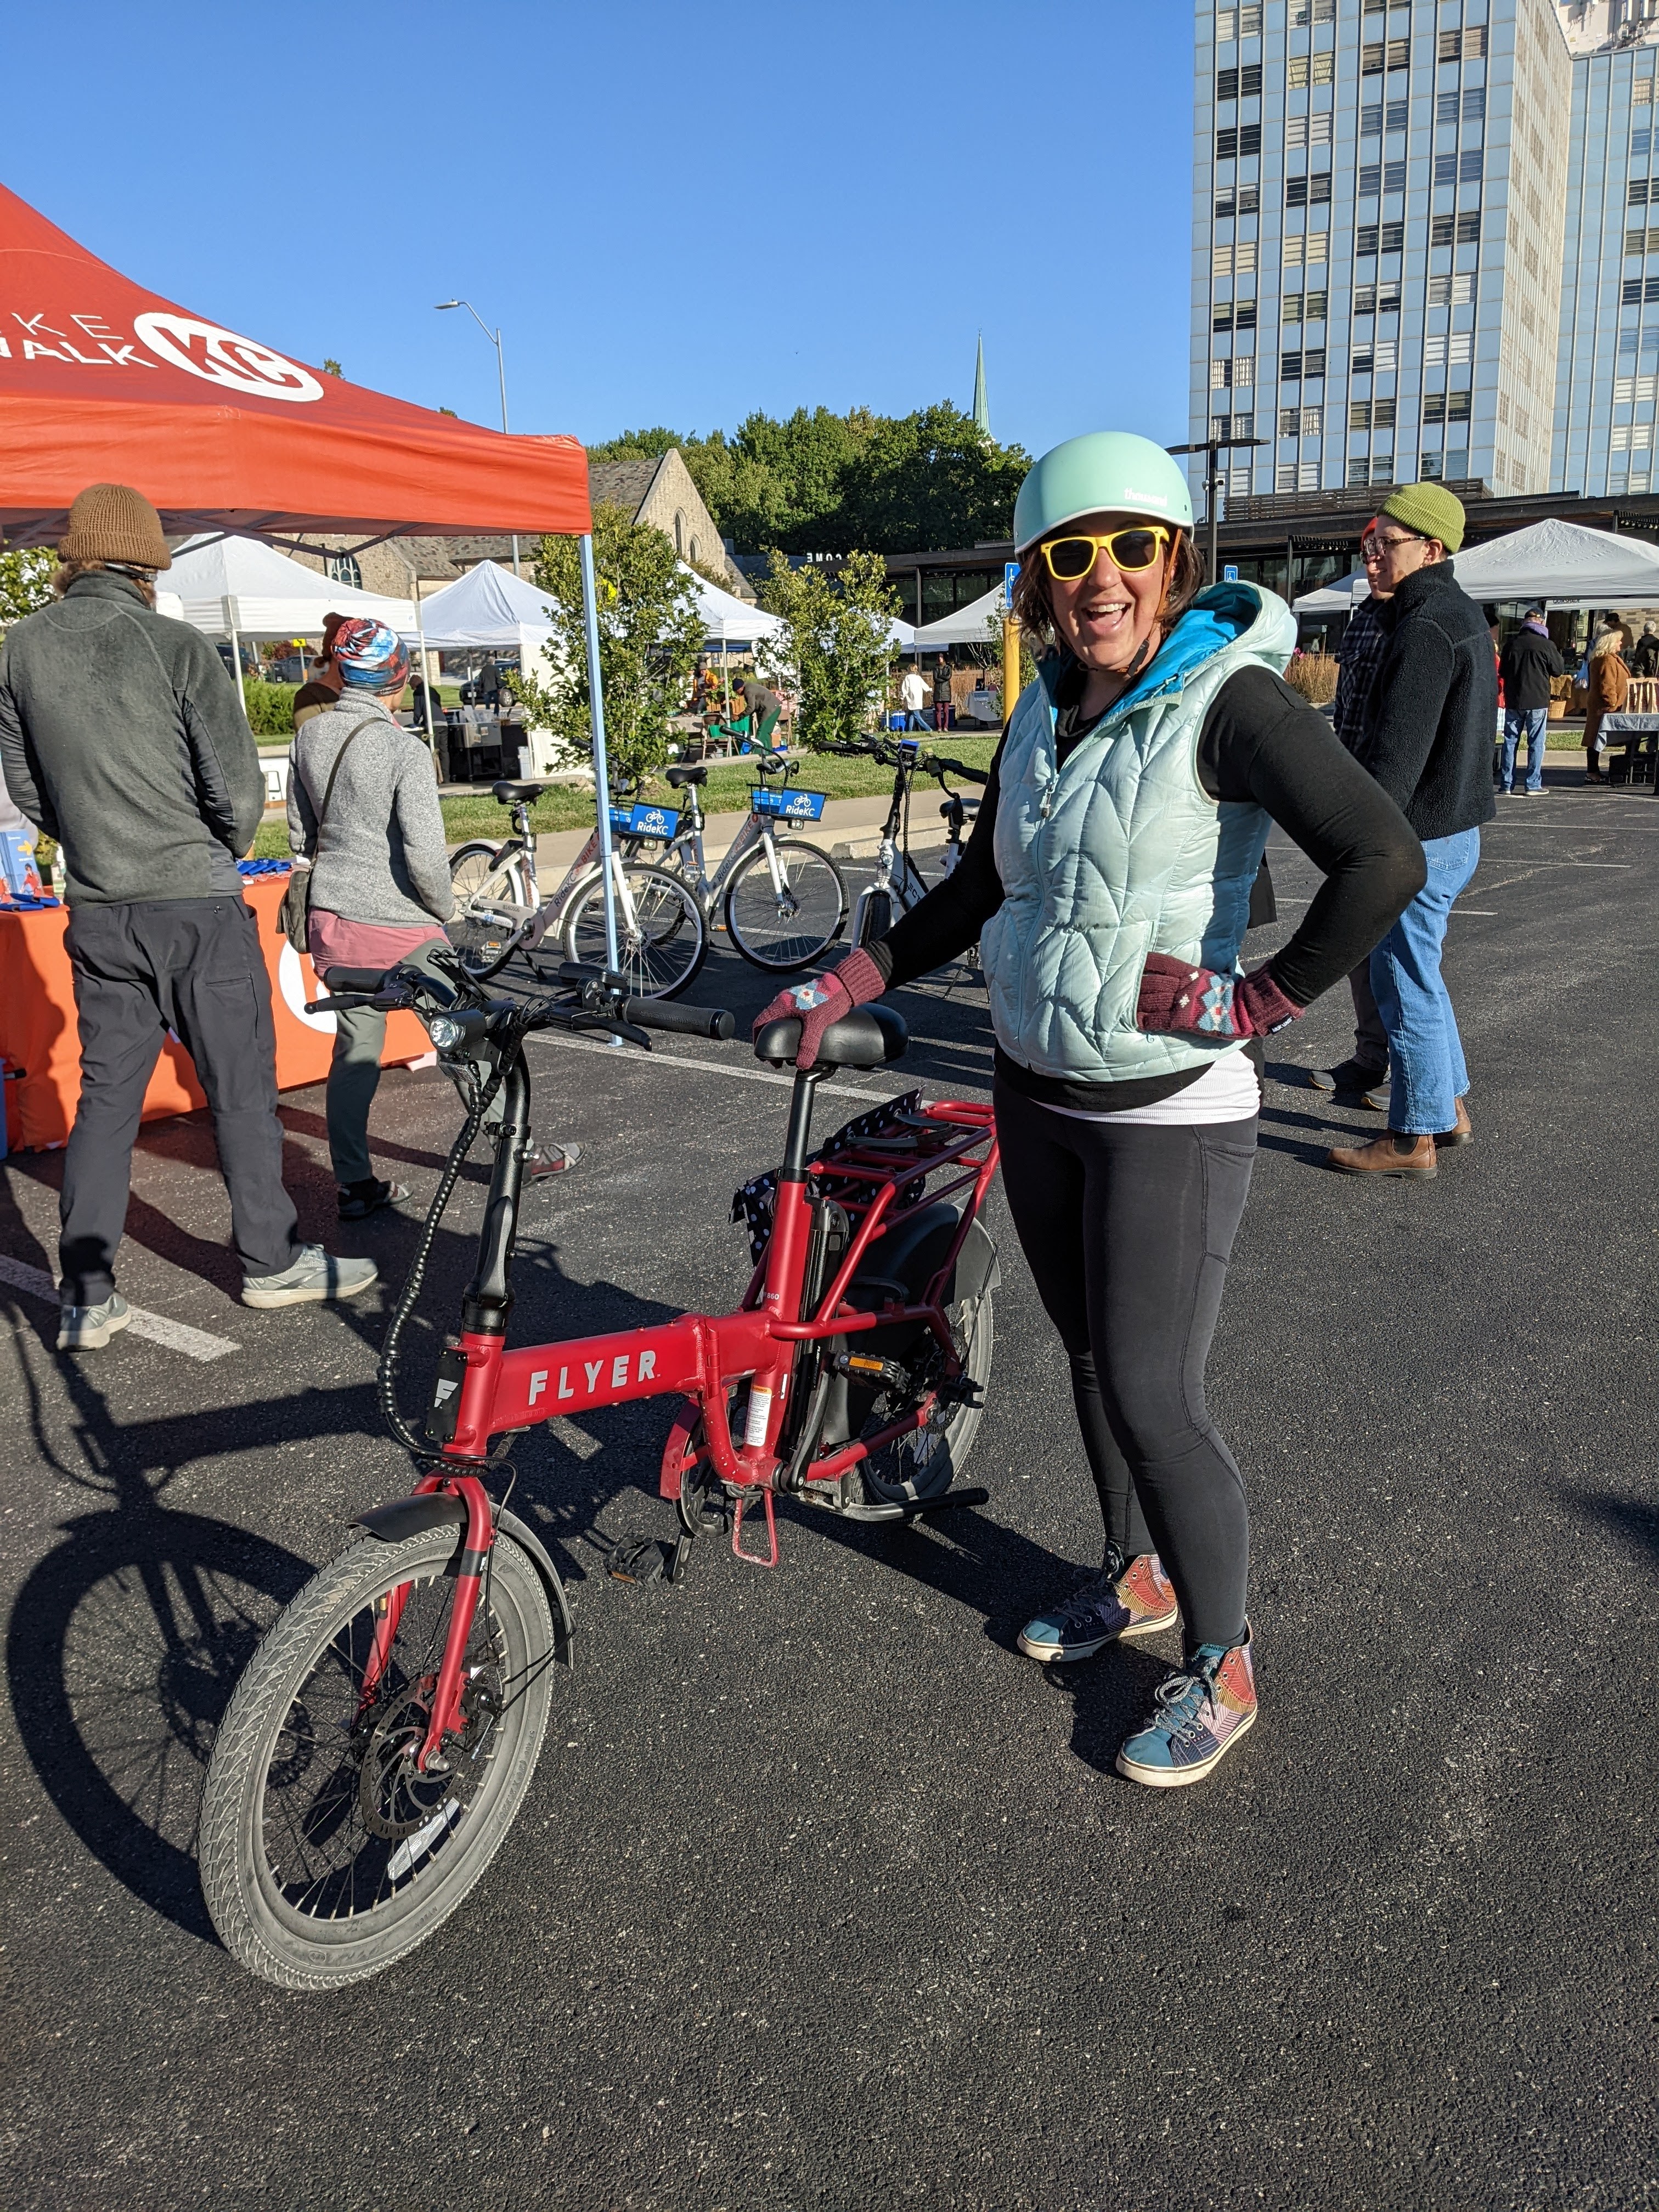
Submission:
[[[1500,803],[1453,916],[1478,1141],[1436,1181],[1321,1164],[1376,1126],[1290,1066],[1343,1057],[1343,991],[1274,1040],[1210,1367],[1263,1710],[1188,1792],[1113,1772],[1172,1639],[1048,1674],[1015,1650],[1099,1524],[995,1194],[991,1502],[905,1531],[785,1506],[776,1571],[706,1540],[639,1588],[602,1555],[668,1533],[666,1402],[535,1431],[515,1504],[577,1666],[511,1840],[383,1978],[250,1980],[197,1889],[204,1761],[263,1624],[407,1486],[372,1378],[416,1214],[338,1230],[321,1091],[288,1095],[303,1225],[385,1296],[248,1312],[206,1119],[153,1124],[122,1287],[184,1327],[64,1360],[60,1161],[13,1157],[7,2205],[1659,2201],[1659,803],[1575,783]],[[1314,878],[1279,841],[1274,874],[1283,931]],[[770,987],[714,953],[697,995],[748,1018]],[[896,1002],[909,1060],[843,1088],[982,1093],[978,984]],[[730,1194],[776,1159],[783,1084],[743,1044],[544,1040],[533,1066],[582,1161],[526,1203],[513,1334],[734,1303]],[[440,1073],[389,1075],[383,1168],[422,1201],[453,1126]],[[440,1237],[436,1327],[480,1197]]]

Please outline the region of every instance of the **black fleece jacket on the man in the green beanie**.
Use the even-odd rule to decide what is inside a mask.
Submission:
[[[1498,657],[1449,562],[1418,568],[1376,611],[1387,635],[1358,759],[1418,836],[1455,836],[1498,812]]]

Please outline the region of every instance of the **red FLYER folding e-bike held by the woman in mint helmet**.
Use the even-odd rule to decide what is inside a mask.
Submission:
[[[409,1006],[471,1099],[445,1161],[380,1354],[380,1407],[420,1467],[276,1617],[219,1730],[199,1823],[208,1911],[243,1966],[332,1989],[403,1958],[462,1902],[524,1801],[571,1661],[571,1608],[540,1537],[507,1506],[511,1438],[557,1413],[677,1396],[659,1489],[679,1579],[703,1528],[774,1566],[779,1493],[856,1520],[984,1502],[956,1475],[991,1374],[995,1248],[978,1219],[998,1161],[989,1104],[887,1099],[810,1152],[814,1091],[834,1068],[905,1051],[889,1006],[836,1022],[799,1068],[781,1168],[734,1201],[754,1272],[737,1312],[509,1349],[511,1261],[529,1144],[524,1037],[646,1026],[730,1037],[732,1018],[626,1000],[622,978],[566,967],[553,998],[487,1002],[394,969],[332,969],[323,1006]],[[757,1055],[787,1066],[796,1020]],[[500,1093],[495,1166],[460,1334],[425,1418],[396,1402],[398,1340],[462,1164]],[[487,1484],[491,1469],[507,1495]],[[498,1484],[500,1486],[500,1484]],[[765,1537],[743,1542],[759,1500]],[[661,1553],[659,1553],[661,1557]]]

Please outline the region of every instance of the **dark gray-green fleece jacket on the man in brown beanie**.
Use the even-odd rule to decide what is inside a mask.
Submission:
[[[259,748],[215,646],[131,577],[75,577],[7,633],[0,768],[62,845],[71,907],[241,898]]]

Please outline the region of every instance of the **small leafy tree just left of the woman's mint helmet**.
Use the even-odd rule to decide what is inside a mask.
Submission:
[[[898,650],[889,641],[898,593],[880,553],[849,553],[838,575],[812,564],[792,568],[774,553],[761,604],[783,617],[783,628],[763,639],[757,659],[765,677],[799,686],[801,743],[863,737]]]

